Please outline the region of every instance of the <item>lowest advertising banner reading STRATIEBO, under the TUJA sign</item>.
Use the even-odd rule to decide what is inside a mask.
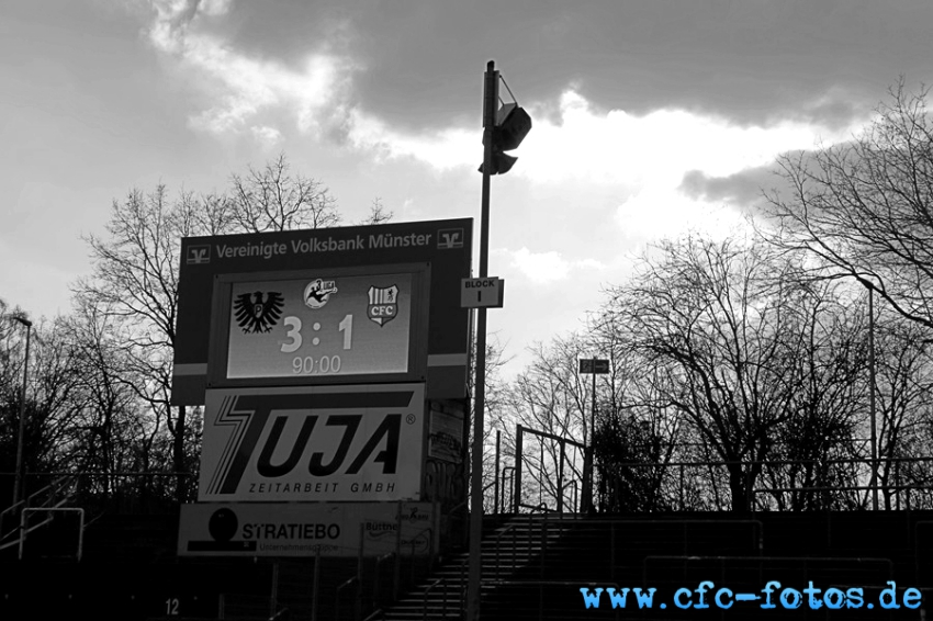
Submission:
[[[437,550],[430,503],[182,505],[179,556],[364,556]],[[401,530],[400,530],[401,524]]]

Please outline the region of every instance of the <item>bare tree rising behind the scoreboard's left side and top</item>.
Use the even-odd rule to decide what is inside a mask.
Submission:
[[[78,298],[97,309],[90,319],[110,325],[125,339],[123,383],[153,411],[157,431],[164,426],[170,434],[179,498],[189,494],[182,474],[196,450],[190,443],[192,422],[198,427],[184,406],[171,407],[169,402],[181,238],[313,228],[340,221],[328,190],[291,174],[284,155],[261,170],[250,168],[245,177],[232,176],[232,185],[229,195],[182,192],[175,201],[165,185],[149,193],[131,190],[123,202],[114,201],[106,236],[87,238],[93,273],[75,285]],[[150,438],[153,442],[158,438]]]

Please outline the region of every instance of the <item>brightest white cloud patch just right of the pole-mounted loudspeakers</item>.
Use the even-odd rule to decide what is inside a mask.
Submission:
[[[531,115],[537,117],[533,110]],[[561,95],[558,123],[553,116],[542,115],[517,151],[522,158],[517,174],[551,182],[670,184],[678,183],[688,170],[731,174],[773,161],[779,153],[811,147],[819,138],[846,135],[845,129],[795,121],[739,126],[683,110],[642,116],[622,110],[600,113],[574,91]]]

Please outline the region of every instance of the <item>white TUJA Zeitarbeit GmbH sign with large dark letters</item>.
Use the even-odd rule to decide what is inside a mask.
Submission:
[[[423,384],[209,391],[201,501],[416,500]]]

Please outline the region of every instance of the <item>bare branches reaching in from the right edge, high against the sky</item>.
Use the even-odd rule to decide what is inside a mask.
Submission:
[[[853,278],[904,318],[933,329],[928,90],[909,94],[901,80],[890,95],[853,140],[779,158],[790,191],[766,195],[776,229],[765,235],[818,258],[814,278]]]

